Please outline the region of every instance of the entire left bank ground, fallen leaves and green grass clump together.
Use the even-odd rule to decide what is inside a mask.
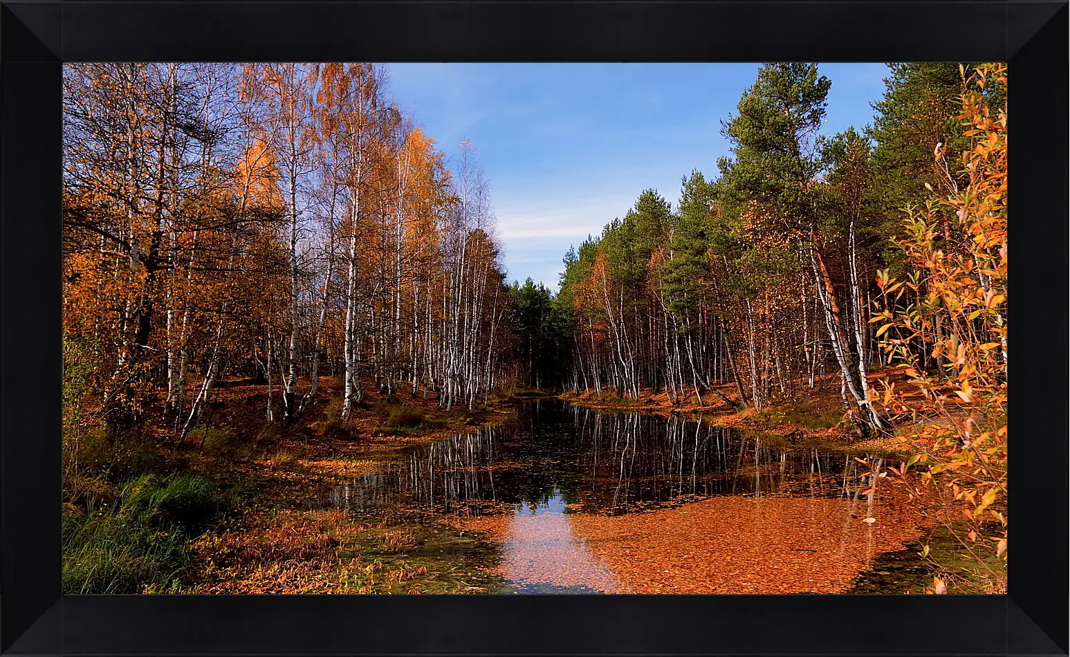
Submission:
[[[342,423],[338,387],[336,380],[321,378],[301,421],[281,427],[266,421],[266,386],[227,381],[185,440],[169,439],[163,417],[150,418],[124,447],[133,452],[97,438],[105,469],[79,471],[65,482],[64,524],[87,536],[77,547],[64,544],[64,570],[74,568],[65,592],[101,593],[98,587],[107,586],[109,593],[372,593],[426,583],[414,592],[458,593],[471,586],[468,580],[443,584],[437,578],[452,564],[408,560],[403,550],[432,543],[478,561],[487,546],[450,535],[444,523],[426,518],[394,524],[351,518],[331,508],[330,491],[346,479],[377,474],[408,448],[501,424],[515,400],[491,398],[484,409],[446,411],[431,395],[406,389],[386,396],[366,385],[364,400]],[[131,495],[175,483],[198,487],[195,501],[204,510],[197,525],[203,530],[159,533],[148,524],[150,518],[131,514],[137,504]],[[124,532],[126,547],[117,550],[109,546],[120,541],[92,538],[102,531]],[[153,546],[169,535],[160,553]],[[118,568],[136,570],[111,567],[123,562],[117,555],[133,559],[133,565]],[[101,565],[113,572],[111,580],[91,575]],[[170,575],[156,581],[141,575],[160,570]]]

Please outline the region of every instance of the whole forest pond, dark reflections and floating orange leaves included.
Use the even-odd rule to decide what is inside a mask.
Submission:
[[[514,593],[843,592],[918,535],[904,496],[871,482],[884,459],[541,399],[412,448],[331,504],[479,532]]]

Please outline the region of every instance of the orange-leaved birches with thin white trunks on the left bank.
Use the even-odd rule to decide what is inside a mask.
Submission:
[[[409,388],[473,408],[515,338],[489,185],[365,63],[64,68],[64,396],[184,433],[226,376],[291,424]],[[513,375],[508,375],[513,376]]]

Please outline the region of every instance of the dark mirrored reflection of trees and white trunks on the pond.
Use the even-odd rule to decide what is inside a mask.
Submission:
[[[503,426],[413,448],[381,475],[337,487],[333,503],[485,515],[545,505],[560,491],[566,511],[618,515],[716,495],[855,499],[868,488],[859,476],[870,471],[857,456],[701,417],[539,400],[520,404]],[[880,455],[863,458],[874,459]]]

